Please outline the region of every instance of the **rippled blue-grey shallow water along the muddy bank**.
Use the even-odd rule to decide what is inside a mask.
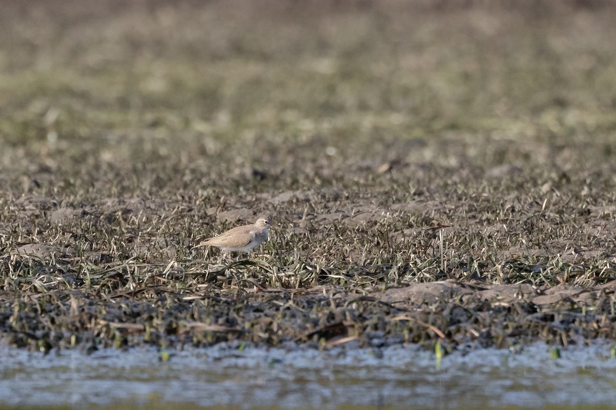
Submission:
[[[1,349],[0,408],[614,408],[610,344],[455,352],[418,347],[169,352]]]

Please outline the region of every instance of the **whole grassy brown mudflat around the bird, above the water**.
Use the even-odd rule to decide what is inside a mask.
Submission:
[[[2,342],[615,339],[613,6],[2,1]]]

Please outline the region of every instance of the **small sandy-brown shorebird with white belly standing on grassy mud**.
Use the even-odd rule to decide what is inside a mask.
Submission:
[[[254,224],[238,226],[206,239],[198,246],[217,246],[222,251],[252,252],[269,237],[270,222],[259,218]]]

